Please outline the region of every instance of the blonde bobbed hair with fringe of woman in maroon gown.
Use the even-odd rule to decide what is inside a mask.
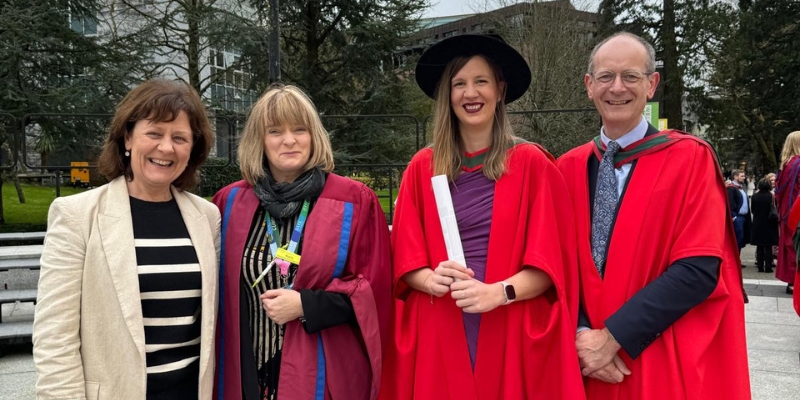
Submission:
[[[251,185],[267,176],[264,151],[267,128],[284,124],[304,126],[311,134],[311,155],[303,166],[303,172],[314,167],[324,172],[333,171],[333,150],[328,131],[322,126],[314,103],[296,86],[274,86],[253,105],[239,139],[239,169]]]

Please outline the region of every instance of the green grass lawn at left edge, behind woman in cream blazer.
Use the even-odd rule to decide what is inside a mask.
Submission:
[[[61,187],[61,196],[80,193],[86,189]],[[3,216],[5,225],[0,232],[33,232],[47,228],[47,210],[56,198],[56,188],[51,186],[22,185],[25,204],[20,204],[13,182],[3,183]]]

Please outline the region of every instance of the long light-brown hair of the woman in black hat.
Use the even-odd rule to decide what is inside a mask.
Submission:
[[[434,175],[447,175],[450,182],[455,181],[461,170],[461,152],[463,144],[458,130],[458,118],[450,107],[450,81],[464,68],[473,57],[482,57],[486,60],[495,75],[495,81],[500,86],[505,84],[502,72],[495,62],[483,55],[455,57],[447,64],[436,88],[436,99],[433,104],[433,173]],[[500,93],[501,99],[505,98],[505,86]],[[506,152],[514,145],[514,135],[511,122],[506,115],[505,100],[497,103],[492,124],[492,142],[481,172],[491,180],[498,180],[505,172]]]

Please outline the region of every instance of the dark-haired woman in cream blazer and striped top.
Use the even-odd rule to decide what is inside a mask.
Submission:
[[[186,192],[211,148],[200,96],[149,80],[119,103],[110,181],[50,206],[33,322],[40,399],[211,399],[217,208]]]

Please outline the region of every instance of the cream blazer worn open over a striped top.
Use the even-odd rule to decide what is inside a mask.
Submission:
[[[172,188],[202,274],[199,398],[211,399],[220,216]],[[124,177],[50,205],[33,321],[37,399],[144,399],[144,323]]]

